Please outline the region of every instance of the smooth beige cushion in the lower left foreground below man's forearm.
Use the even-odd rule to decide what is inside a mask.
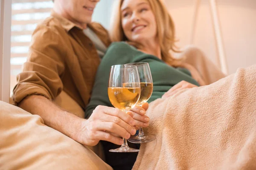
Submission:
[[[111,170],[88,147],[0,101],[0,169]]]

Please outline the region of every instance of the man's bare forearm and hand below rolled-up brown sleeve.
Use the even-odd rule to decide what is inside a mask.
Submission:
[[[122,139],[112,134],[128,139],[136,133],[134,119],[116,108],[99,106],[86,120],[62,110],[44,96],[28,96],[19,107],[41,116],[45,125],[87,146],[94,146],[99,140],[122,144]]]

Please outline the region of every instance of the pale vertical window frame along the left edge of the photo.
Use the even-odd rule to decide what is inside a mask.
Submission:
[[[0,0],[0,100],[9,103],[12,0]]]

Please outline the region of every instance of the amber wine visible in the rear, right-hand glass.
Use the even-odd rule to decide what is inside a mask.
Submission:
[[[153,92],[153,83],[141,82],[140,83],[140,99],[137,105],[141,106],[151,97]]]

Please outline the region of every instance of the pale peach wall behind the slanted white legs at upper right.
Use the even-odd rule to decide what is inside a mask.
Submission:
[[[194,0],[166,0],[179,42],[189,44]],[[229,73],[256,64],[256,0],[216,0]],[[216,45],[209,0],[201,0],[194,44],[216,64]]]

